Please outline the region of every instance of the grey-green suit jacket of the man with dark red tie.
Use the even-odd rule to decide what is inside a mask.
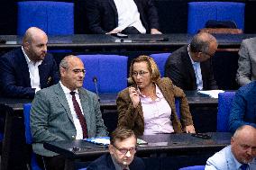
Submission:
[[[96,94],[78,88],[81,106],[87,121],[88,138],[108,135]],[[41,89],[35,94],[31,109],[33,151],[41,156],[57,154],[43,148],[44,142],[71,140],[77,130],[69,109],[69,103],[60,84]]]

